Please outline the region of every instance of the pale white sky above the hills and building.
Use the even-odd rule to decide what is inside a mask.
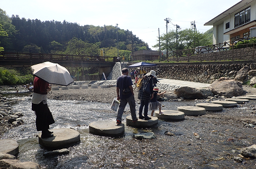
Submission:
[[[40,21],[73,22],[79,25],[113,25],[130,30],[152,46],[166,34],[164,19],[170,18],[168,31],[189,29],[195,21],[196,30],[203,33],[212,26],[204,24],[241,0],[0,0],[7,16],[13,14]]]

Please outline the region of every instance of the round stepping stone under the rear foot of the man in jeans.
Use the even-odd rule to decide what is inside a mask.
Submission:
[[[96,121],[89,124],[89,132],[96,135],[116,137],[124,134],[124,124],[116,121]]]

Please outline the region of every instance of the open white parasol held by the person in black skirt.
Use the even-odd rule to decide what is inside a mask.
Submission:
[[[43,62],[31,66],[33,75],[47,81],[50,84],[68,86],[73,83],[70,73],[58,63]]]

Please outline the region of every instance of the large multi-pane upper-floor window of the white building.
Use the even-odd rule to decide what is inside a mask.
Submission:
[[[250,22],[250,6],[235,14],[235,27]]]

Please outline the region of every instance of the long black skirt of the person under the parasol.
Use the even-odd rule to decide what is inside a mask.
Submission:
[[[32,111],[35,111],[35,115],[37,116],[35,120],[37,131],[48,130],[49,125],[55,123],[52,112],[50,112],[47,104],[43,104],[43,102],[39,104],[32,103]]]

